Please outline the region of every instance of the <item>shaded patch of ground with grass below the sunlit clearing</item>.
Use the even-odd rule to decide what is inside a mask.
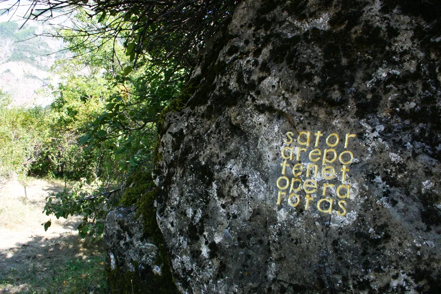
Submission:
[[[94,268],[103,274],[103,262],[101,241],[81,239],[72,233],[34,236],[31,241],[0,251],[0,293],[46,293],[48,287],[64,293],[72,283],[83,282],[86,289],[96,287],[91,276]]]

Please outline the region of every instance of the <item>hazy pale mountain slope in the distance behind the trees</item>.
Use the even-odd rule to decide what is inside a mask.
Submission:
[[[47,105],[53,99],[48,85],[57,82],[48,71],[66,52],[55,53],[63,48],[62,41],[37,36],[49,31],[49,24],[29,21],[19,29],[23,22],[0,22],[0,88],[14,105]]]

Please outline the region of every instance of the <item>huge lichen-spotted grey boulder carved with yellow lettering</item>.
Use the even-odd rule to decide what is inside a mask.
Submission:
[[[438,293],[440,8],[240,3],[160,130],[182,293]]]

